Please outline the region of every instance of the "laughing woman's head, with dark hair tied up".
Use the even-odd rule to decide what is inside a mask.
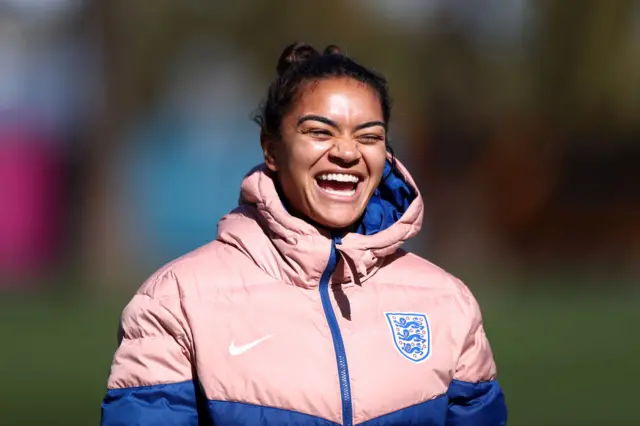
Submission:
[[[320,55],[291,45],[277,68],[257,116],[265,163],[292,213],[330,229],[352,226],[387,158],[386,82],[335,46]]]

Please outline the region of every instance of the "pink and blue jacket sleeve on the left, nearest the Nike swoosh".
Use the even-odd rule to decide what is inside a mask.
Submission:
[[[179,305],[177,297],[138,293],[125,308],[102,426],[198,425],[198,389]]]

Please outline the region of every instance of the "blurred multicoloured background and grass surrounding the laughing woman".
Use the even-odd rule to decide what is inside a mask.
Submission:
[[[215,238],[293,41],[388,77],[407,247],[480,300],[509,424],[639,425],[634,0],[0,0],[0,425],[99,423],[122,308]]]

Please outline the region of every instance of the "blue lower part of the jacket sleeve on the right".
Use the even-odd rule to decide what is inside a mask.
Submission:
[[[507,407],[497,381],[469,383],[454,380],[447,391],[447,426],[504,426]]]

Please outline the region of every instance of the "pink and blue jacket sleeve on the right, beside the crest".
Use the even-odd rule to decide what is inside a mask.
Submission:
[[[467,326],[456,372],[447,391],[446,425],[503,426],[507,424],[507,407],[496,380],[496,365],[482,325],[480,308],[466,287],[463,296],[471,326]]]

